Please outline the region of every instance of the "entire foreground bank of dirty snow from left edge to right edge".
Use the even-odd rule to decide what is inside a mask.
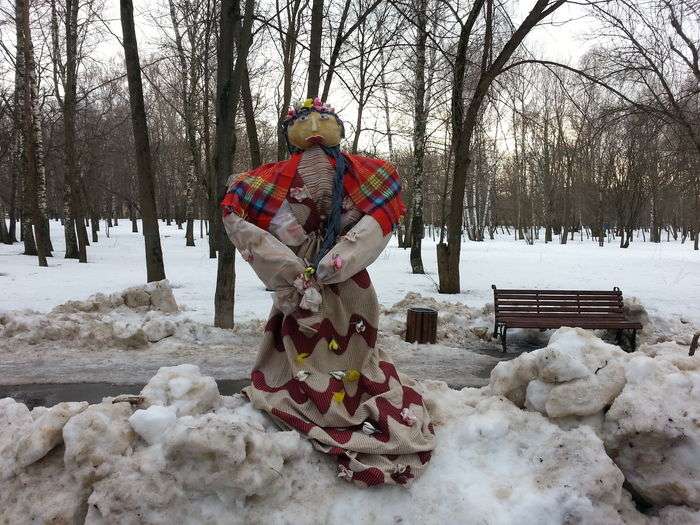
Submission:
[[[700,362],[669,343],[638,355],[608,347],[563,328],[549,347],[498,365],[488,386],[458,391],[421,383],[437,448],[408,489],[359,489],[338,479],[329,457],[297,432],[277,429],[241,396],[220,396],[193,365],[160,369],[133,406],[106,398],[29,411],[4,399],[2,517],[7,523],[697,523]],[[590,383],[600,359],[622,367],[621,389],[609,388],[615,381]],[[553,388],[583,383],[594,398],[606,399],[598,412],[602,432],[588,423],[590,410],[582,416],[575,388],[561,391],[576,401],[569,412],[553,416],[546,402],[519,406],[523,395],[528,404],[535,381]],[[613,390],[614,399],[607,399]],[[571,418],[576,422],[562,424]],[[668,466],[659,468],[662,457]],[[623,489],[625,479],[652,505],[647,514]],[[49,486],[50,497],[40,498]]]

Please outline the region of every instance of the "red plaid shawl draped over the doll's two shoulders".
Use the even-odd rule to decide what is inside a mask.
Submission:
[[[346,195],[360,210],[374,217],[386,235],[406,212],[396,168],[384,160],[344,155],[348,164],[343,178]],[[224,216],[233,212],[267,230],[287,197],[300,159],[301,153],[295,153],[289,160],[238,175],[221,201]],[[335,163],[334,159],[330,161]]]

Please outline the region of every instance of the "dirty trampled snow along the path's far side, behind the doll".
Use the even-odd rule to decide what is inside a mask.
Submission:
[[[403,340],[408,305],[440,309],[438,344]],[[482,310],[409,294],[383,312],[378,345],[409,375],[456,386],[487,383],[504,356],[481,330]],[[477,323],[476,327],[470,326]],[[181,311],[168,281],[71,300],[48,313],[0,313],[0,385],[145,383],[163,365],[196,363],[217,379],[249,377],[263,320],[222,330]]]

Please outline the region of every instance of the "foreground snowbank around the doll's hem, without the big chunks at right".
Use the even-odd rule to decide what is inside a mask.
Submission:
[[[408,489],[360,489],[340,480],[332,459],[297,432],[279,430],[241,396],[213,397],[210,378],[195,366],[162,368],[144,388],[142,405],[108,398],[56,408],[50,416],[53,437],[34,449],[30,464],[18,459],[17,443],[54,409],[30,412],[5,399],[2,518],[126,524],[460,523],[465,516],[484,524],[644,522],[622,489],[622,473],[590,428],[564,430],[488,388],[456,391],[429,382],[423,390],[437,448],[425,474]],[[50,497],[40,497],[40,490]]]

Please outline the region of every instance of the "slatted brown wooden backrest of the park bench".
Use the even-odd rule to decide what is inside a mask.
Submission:
[[[622,292],[609,290],[499,290],[493,288],[496,318],[580,317],[624,319]]]

